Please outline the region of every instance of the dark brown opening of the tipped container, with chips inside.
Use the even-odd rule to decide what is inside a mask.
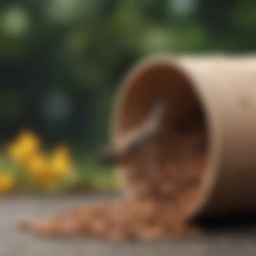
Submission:
[[[208,145],[203,106],[186,74],[176,66],[153,63],[136,71],[128,76],[119,98],[115,136],[118,140],[139,126],[154,105],[164,101],[156,153],[158,174],[151,183],[147,176],[140,184],[148,185],[144,186],[148,191],[143,196],[166,198],[186,214],[199,204],[206,169]],[[136,172],[142,171],[140,168],[137,166]],[[126,163],[123,169],[130,173],[132,165]],[[126,183],[128,191],[138,196],[135,184],[139,182],[133,179]]]

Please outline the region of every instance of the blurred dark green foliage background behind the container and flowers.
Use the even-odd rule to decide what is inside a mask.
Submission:
[[[111,187],[91,152],[128,68],[163,52],[252,52],[255,27],[253,0],[1,0],[1,169],[6,145],[31,129],[46,149],[69,145],[76,188]]]

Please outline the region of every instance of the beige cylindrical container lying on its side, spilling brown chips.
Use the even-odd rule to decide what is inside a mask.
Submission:
[[[169,102],[173,118],[196,106],[204,113],[206,164],[199,196],[187,217],[256,213],[256,58],[143,60],[116,95],[113,142],[118,144],[162,99]]]

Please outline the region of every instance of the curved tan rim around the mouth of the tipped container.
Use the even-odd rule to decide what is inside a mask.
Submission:
[[[207,156],[206,156],[206,169],[204,171],[204,177],[202,181],[201,193],[197,200],[197,202],[185,213],[186,218],[194,218],[197,217],[198,214],[203,212],[204,207],[208,201],[209,195],[211,194],[215,182],[218,178],[219,174],[219,162],[220,162],[220,132],[218,127],[218,118],[215,118],[214,111],[211,103],[207,100],[206,95],[204,94],[203,87],[206,86],[203,84],[203,81],[197,75],[197,73],[193,72],[191,69],[191,65],[196,62],[204,62],[209,56],[203,57],[177,57],[170,54],[165,55],[156,55],[148,58],[144,58],[140,60],[137,64],[135,64],[124,76],[121,86],[117,90],[117,93],[114,97],[113,108],[112,108],[112,116],[110,118],[110,137],[113,144],[116,144],[118,141],[118,116],[120,114],[119,107],[131,89],[133,81],[138,77],[141,72],[146,71],[149,68],[152,68],[157,65],[166,65],[171,70],[176,70],[179,72],[184,78],[189,81],[191,89],[193,90],[200,106],[203,109],[205,115],[206,122],[206,131],[207,131]],[[210,59],[213,58],[222,58],[219,56],[210,55]],[[118,171],[118,168],[117,168]]]

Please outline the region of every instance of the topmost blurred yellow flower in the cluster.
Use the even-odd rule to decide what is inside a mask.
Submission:
[[[38,151],[39,144],[38,137],[26,130],[11,143],[9,147],[9,155],[16,161],[23,161]]]

